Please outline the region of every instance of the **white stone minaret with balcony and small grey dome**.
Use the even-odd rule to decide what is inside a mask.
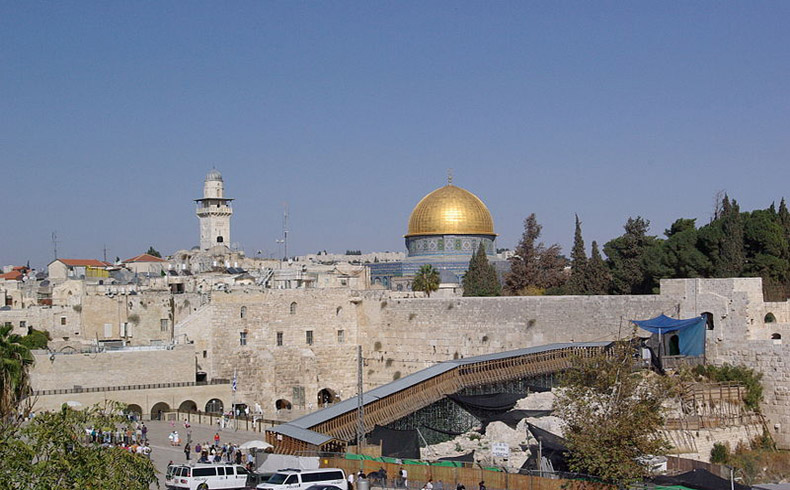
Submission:
[[[200,220],[200,249],[208,250],[217,245],[230,247],[230,216],[233,199],[225,197],[225,182],[216,169],[206,175],[203,199],[195,199]]]

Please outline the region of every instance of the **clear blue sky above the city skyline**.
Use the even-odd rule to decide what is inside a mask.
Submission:
[[[445,183],[565,253],[790,197],[790,3],[0,1],[0,263],[232,240],[403,250]]]

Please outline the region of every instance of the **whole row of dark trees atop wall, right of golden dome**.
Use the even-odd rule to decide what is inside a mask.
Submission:
[[[559,245],[540,241],[542,227],[530,214],[508,259],[501,294],[652,294],[666,278],[761,277],[768,301],[790,296],[790,211],[784,199],[778,209],[771,204],[742,212],[725,194],[704,226],[679,218],[664,237],[648,234],[649,227],[645,218],[628,218],[624,233],[603,245],[603,255],[593,241],[588,256],[576,216],[567,258]],[[465,296],[500,294],[482,249],[472,257],[463,285]]]

